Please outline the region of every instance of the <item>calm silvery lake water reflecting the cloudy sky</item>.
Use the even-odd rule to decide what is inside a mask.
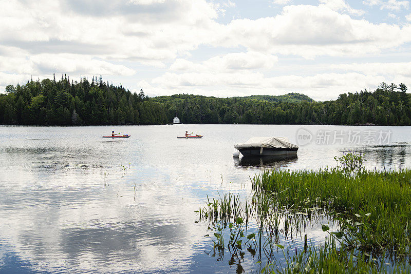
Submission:
[[[132,137],[101,138],[111,130]],[[185,130],[204,137],[177,139]],[[236,263],[229,262],[228,250],[223,259],[213,256],[211,239],[203,237],[208,223],[195,223],[194,211],[207,203],[207,195],[246,197],[249,177],[265,169],[334,167],[333,156],[349,150],[364,153],[368,169],[410,168],[410,130],[1,126],[0,272],[256,272],[257,257],[247,250]],[[302,145],[310,135],[311,142]],[[387,135],[389,140],[383,140]],[[253,136],[288,136],[300,144],[298,158],[234,159],[234,145]],[[306,227],[302,237],[307,233],[313,243],[324,241],[324,222]],[[301,237],[280,242],[291,248],[304,244]],[[284,258],[282,251],[276,256]]]

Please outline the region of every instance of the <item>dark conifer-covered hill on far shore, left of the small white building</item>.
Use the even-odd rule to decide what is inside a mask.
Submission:
[[[161,125],[167,123],[162,104],[141,90],[132,93],[109,85],[102,77],[80,83],[29,81],[8,85],[0,95],[0,123],[7,125]]]

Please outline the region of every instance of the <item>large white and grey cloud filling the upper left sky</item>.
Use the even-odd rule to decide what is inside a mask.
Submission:
[[[3,45],[24,47],[31,53],[163,61],[204,43],[217,25],[217,10],[203,0],[107,2],[113,10],[104,16],[95,14],[95,5],[87,1],[81,7],[75,2],[39,2],[24,5],[14,0],[2,5]]]

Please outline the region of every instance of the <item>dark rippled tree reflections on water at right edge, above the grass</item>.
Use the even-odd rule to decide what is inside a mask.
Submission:
[[[340,150],[341,153],[348,150]],[[411,155],[411,145],[394,144],[382,146],[364,146],[351,149],[364,154],[368,168],[406,168],[408,155]]]

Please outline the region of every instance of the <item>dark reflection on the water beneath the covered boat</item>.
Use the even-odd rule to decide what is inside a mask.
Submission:
[[[290,166],[298,160],[296,155],[293,156],[243,156],[241,159],[234,159],[236,168],[264,169],[267,168],[284,168]]]

